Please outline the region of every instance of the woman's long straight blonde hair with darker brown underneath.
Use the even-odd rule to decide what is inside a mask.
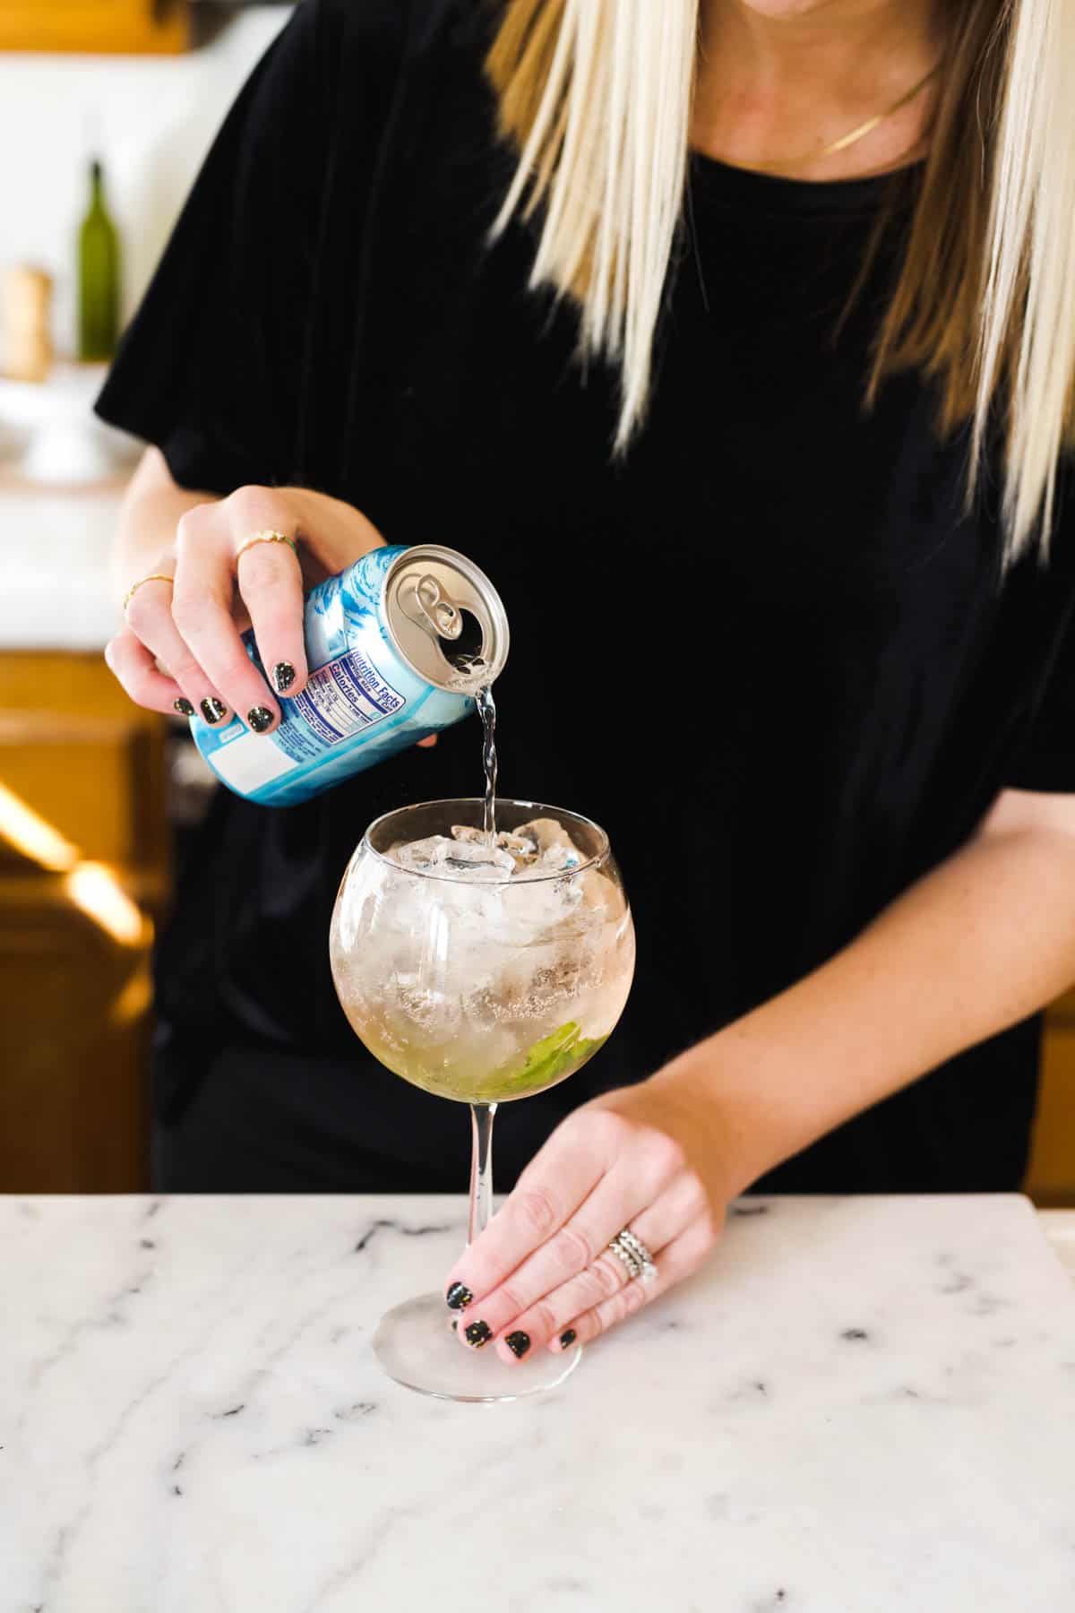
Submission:
[[[532,284],[619,366],[616,450],[645,419],[687,185],[699,0],[506,0],[488,56],[519,158],[495,234],[540,213]],[[1075,0],[948,0],[944,77],[865,398],[914,368],[969,487],[1004,444],[1006,560],[1048,552],[1075,444]]]

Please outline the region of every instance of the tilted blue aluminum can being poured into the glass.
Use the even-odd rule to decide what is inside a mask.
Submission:
[[[237,795],[293,806],[474,710],[508,660],[492,582],[453,548],[374,548],[319,584],[305,615],[309,681],[272,734],[195,716],[195,745]],[[253,632],[250,660],[264,671]]]

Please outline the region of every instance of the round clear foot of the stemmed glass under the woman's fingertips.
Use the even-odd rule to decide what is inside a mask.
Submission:
[[[533,1350],[508,1366],[492,1344],[484,1350],[461,1345],[443,1295],[422,1294],[385,1311],[374,1334],[374,1355],[388,1378],[421,1395],[492,1402],[519,1400],[562,1384],[579,1365],[582,1345],[556,1355]]]

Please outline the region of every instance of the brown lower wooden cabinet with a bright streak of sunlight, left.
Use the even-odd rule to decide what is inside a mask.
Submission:
[[[98,655],[0,653],[0,1192],[147,1186],[163,719]]]

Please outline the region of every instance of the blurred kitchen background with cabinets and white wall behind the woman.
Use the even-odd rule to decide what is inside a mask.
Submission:
[[[147,1186],[148,958],[210,777],[102,660],[139,445],[90,402],[288,13],[0,0],[0,1192]],[[1075,1205],[1075,994],[1048,1016],[1027,1186]]]

